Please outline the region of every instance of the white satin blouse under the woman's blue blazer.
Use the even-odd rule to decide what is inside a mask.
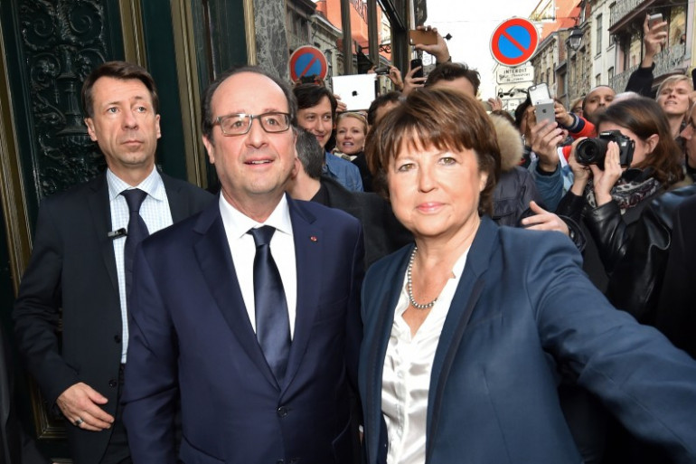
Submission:
[[[381,411],[387,423],[388,464],[424,464],[430,372],[447,312],[466,264],[468,249],[456,260],[430,314],[411,336],[403,318],[409,308],[406,275],[391,325],[381,384]],[[465,393],[462,393],[465,394]]]

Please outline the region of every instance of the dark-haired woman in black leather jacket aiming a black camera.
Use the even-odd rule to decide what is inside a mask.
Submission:
[[[681,181],[683,174],[676,156],[679,147],[654,100],[641,97],[611,105],[597,118],[597,129],[599,138],[574,145],[569,157],[573,185],[556,213],[587,227],[592,240],[588,240],[584,267],[605,291],[616,265],[630,260],[625,250],[640,213],[653,198]]]

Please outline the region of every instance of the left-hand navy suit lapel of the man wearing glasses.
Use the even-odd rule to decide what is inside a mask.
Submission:
[[[193,230],[201,235],[193,244],[193,250],[222,317],[240,340],[240,345],[244,347],[249,358],[259,366],[268,382],[277,387],[276,378],[268,367],[251,327],[244,299],[241,298],[237,272],[232,264],[230,244],[222,224],[218,202],[212,202],[203,210]]]

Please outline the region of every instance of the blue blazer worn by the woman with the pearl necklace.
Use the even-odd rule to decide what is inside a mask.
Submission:
[[[378,261],[362,292],[359,372],[367,462],[388,440],[381,378],[409,254]],[[611,307],[557,232],[484,218],[437,346],[428,464],[581,462],[560,410],[563,369],[635,434],[696,459],[696,363],[652,327]]]

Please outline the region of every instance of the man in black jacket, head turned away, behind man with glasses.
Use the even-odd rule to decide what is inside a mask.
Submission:
[[[322,175],[324,149],[311,132],[299,128],[296,147],[298,166],[287,192],[296,200],[338,208],[360,220],[365,239],[365,269],[413,241],[413,235],[397,221],[391,205],[381,196],[352,192],[335,179]]]

